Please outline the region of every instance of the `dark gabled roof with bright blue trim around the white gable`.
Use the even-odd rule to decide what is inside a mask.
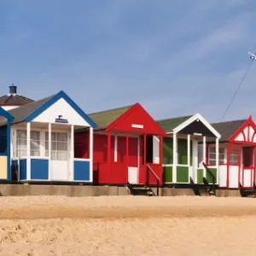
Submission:
[[[24,106],[21,106],[20,108],[14,108],[9,110],[9,113],[14,116],[14,122],[13,123],[20,123],[20,122],[31,122],[33,119],[38,117],[39,114],[43,113],[44,110],[49,108],[51,105],[53,105],[55,102],[57,102],[59,99],[65,99],[66,102],[79,113],[79,115],[87,121],[87,123],[91,127],[96,127],[96,124],[93,122],[92,119],[89,118],[89,116],[84,113],[84,111],[79,108],[79,106],[73,102],[73,100],[67,96],[67,94],[61,90],[54,96],[49,96],[46,98],[43,98],[37,102],[31,102]]]

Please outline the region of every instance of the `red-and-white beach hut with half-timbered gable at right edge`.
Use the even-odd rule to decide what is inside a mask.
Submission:
[[[212,124],[221,134],[219,153],[214,142],[207,142],[207,165],[219,165],[219,186],[252,188],[255,183],[256,125],[252,117]]]

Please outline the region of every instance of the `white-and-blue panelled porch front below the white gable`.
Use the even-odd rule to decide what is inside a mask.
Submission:
[[[12,125],[12,169],[20,182],[92,182],[91,155],[74,158],[74,130],[77,125],[38,122]],[[92,145],[93,131],[90,133]]]

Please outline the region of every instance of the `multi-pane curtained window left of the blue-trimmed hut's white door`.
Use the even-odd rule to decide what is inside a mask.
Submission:
[[[17,130],[16,157],[26,157],[26,131]],[[40,156],[40,131],[31,131],[30,155]]]

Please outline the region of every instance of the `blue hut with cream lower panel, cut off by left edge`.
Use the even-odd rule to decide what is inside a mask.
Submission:
[[[10,169],[10,123],[14,117],[0,107],[0,182],[9,181]]]

